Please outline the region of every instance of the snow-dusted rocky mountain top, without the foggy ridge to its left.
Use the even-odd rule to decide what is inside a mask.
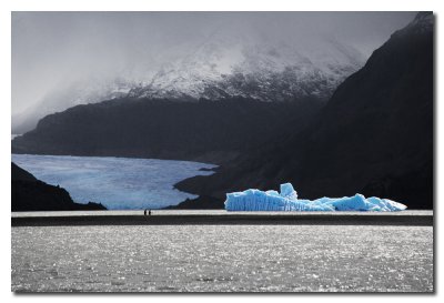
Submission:
[[[251,43],[214,39],[193,53],[163,65],[133,98],[245,97],[261,101],[327,99],[336,85],[363,65],[351,47],[327,40],[300,49],[285,43]]]

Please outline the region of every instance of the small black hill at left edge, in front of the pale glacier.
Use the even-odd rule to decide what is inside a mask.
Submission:
[[[13,212],[105,210],[102,204],[74,203],[64,189],[36,179],[14,163],[11,163],[11,211]]]

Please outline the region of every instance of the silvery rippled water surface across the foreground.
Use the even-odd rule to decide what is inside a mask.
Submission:
[[[432,226],[12,228],[12,291],[433,291]]]

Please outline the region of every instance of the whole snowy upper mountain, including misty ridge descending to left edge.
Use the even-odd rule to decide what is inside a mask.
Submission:
[[[174,57],[173,57],[174,58]],[[12,133],[32,130],[47,114],[111,99],[204,98],[325,103],[334,89],[364,63],[364,55],[333,39],[301,43],[253,43],[248,37],[214,34],[188,53],[147,71],[122,71],[56,87],[27,111],[12,117]]]

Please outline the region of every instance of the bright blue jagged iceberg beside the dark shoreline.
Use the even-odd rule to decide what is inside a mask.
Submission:
[[[281,184],[278,191],[245,190],[226,194],[225,210],[228,211],[403,211],[407,206],[398,202],[365,198],[356,193],[344,198],[321,198],[316,200],[300,200],[291,183]]]

